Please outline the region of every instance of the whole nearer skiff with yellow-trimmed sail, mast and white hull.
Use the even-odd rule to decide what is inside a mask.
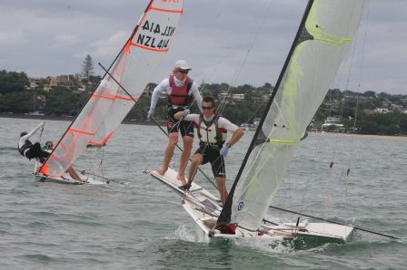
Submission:
[[[330,223],[267,223],[273,196],[280,187],[308,124],[328,92],[357,32],[366,2],[310,0],[292,48],[243,159],[224,207],[193,183],[184,194],[173,170],[154,178],[184,194],[183,207],[205,234],[220,237],[296,236],[346,241],[352,226]],[[209,195],[208,195],[209,193]]]

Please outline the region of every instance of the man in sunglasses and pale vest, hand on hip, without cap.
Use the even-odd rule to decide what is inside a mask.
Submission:
[[[205,96],[202,103],[202,114],[189,114],[189,110],[179,111],[175,113],[175,119],[184,118],[184,121],[193,121],[198,126],[199,149],[194,153],[193,161],[189,167],[188,183],[180,188],[189,189],[194,180],[196,170],[201,164],[211,163],[213,177],[216,180],[216,186],[219,190],[221,201],[224,204],[228,196],[226,190],[226,174],[224,168],[223,157],[225,157],[229,149],[238,140],[243,137],[243,130],[233,124],[231,121],[219,117],[215,117],[215,102],[213,97]],[[233,132],[231,140],[226,144],[226,132]]]

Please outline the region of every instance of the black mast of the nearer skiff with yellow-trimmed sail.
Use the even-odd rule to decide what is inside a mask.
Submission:
[[[307,4],[307,6],[305,8],[305,11],[304,11],[304,14],[303,14],[303,19],[301,21],[300,27],[298,28],[298,31],[297,31],[297,34],[295,35],[294,40],[293,40],[293,44],[291,46],[291,49],[290,49],[290,51],[289,51],[289,53],[287,55],[287,58],[285,59],[283,69],[280,72],[280,75],[278,77],[277,82],[275,83],[275,87],[274,87],[274,91],[272,93],[272,96],[270,97],[270,99],[269,99],[269,101],[267,103],[267,106],[266,106],[265,110],[263,111],[263,117],[262,117],[262,119],[261,119],[261,121],[260,121],[260,123],[259,123],[259,125],[257,127],[257,130],[254,133],[253,140],[250,143],[249,149],[247,149],[246,155],[244,156],[244,159],[243,159],[242,165],[241,165],[241,167],[239,169],[239,172],[237,173],[236,178],[234,179],[233,186],[231,188],[231,191],[229,192],[228,198],[226,199],[226,203],[223,206],[221,215],[218,218],[217,225],[226,225],[226,224],[230,223],[231,215],[232,215],[232,204],[233,204],[234,190],[235,190],[235,188],[237,186],[237,183],[239,182],[239,179],[242,176],[243,169],[246,166],[247,160],[249,159],[253,148],[258,143],[257,141],[259,140],[259,136],[260,136],[262,128],[263,128],[264,120],[267,117],[268,111],[270,110],[270,108],[271,108],[271,106],[273,104],[273,100],[274,100],[274,97],[275,97],[276,93],[280,89],[280,84],[281,84],[281,82],[283,80],[283,75],[284,75],[284,73],[285,73],[285,71],[287,69],[288,64],[290,63],[290,60],[291,60],[291,58],[293,56],[293,52],[295,50],[295,47],[298,45],[298,43],[301,42],[300,41],[300,36],[303,33],[304,24],[305,24],[305,21],[306,21],[306,19],[308,17],[308,14],[310,14],[311,7],[313,6],[313,2],[314,2],[314,0],[309,0],[308,1],[308,4]],[[263,141],[263,143],[264,142],[266,142],[266,140]]]

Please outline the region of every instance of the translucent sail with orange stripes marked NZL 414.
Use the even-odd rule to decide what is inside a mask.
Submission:
[[[152,0],[127,43],[109,68],[114,79],[137,101],[168,52],[183,14],[183,0]],[[86,145],[104,144],[134,106],[134,101],[106,74],[40,172],[59,177]]]

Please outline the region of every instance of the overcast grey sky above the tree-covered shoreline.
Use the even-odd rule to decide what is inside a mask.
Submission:
[[[86,54],[108,66],[147,0],[0,0],[0,70],[31,77],[81,72]],[[185,0],[174,43],[152,82],[185,59],[201,82],[274,85],[300,24],[305,0]],[[332,87],[407,94],[407,1],[371,0],[352,75]],[[95,65],[95,73],[102,70]],[[358,87],[358,85],[361,85]]]

